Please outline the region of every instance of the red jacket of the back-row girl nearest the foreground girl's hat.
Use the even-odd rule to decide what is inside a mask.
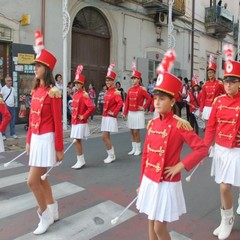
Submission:
[[[145,104],[144,100],[146,100]],[[140,111],[139,107],[143,107],[144,110],[146,110],[151,103],[151,100],[152,98],[146,88],[140,85],[133,86],[128,90],[123,114],[127,115],[128,111]]]

